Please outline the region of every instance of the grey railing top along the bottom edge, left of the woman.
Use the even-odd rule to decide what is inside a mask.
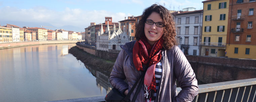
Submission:
[[[47,102],[105,102],[105,96],[76,98],[76,99],[57,100],[57,101],[47,101]]]

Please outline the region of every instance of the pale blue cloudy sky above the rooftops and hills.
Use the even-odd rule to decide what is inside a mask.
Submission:
[[[76,26],[84,31],[90,22],[104,23],[105,17],[118,22],[127,16],[139,16],[155,3],[169,10],[203,9],[202,0],[0,0],[0,24],[49,23],[56,27]]]

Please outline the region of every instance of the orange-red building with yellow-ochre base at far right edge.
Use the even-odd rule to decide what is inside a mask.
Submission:
[[[256,59],[256,0],[229,0],[226,56]]]

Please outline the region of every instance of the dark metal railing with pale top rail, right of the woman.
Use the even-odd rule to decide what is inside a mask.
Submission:
[[[255,102],[256,78],[198,85],[192,102]],[[181,88],[177,88],[179,93]]]

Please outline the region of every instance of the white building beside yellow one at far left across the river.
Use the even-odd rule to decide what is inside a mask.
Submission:
[[[12,30],[12,41],[20,41],[20,27],[12,24],[7,24],[6,27],[11,28]]]

